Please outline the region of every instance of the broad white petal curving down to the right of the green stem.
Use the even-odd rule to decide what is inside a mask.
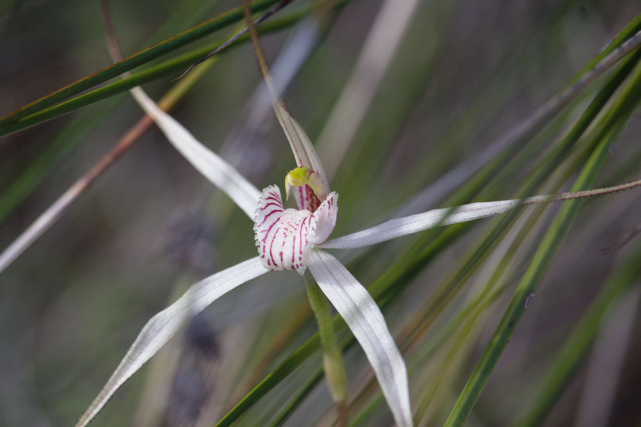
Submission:
[[[363,347],[396,425],[412,426],[405,362],[374,299],[344,265],[320,249],[312,250],[309,267],[320,289]]]

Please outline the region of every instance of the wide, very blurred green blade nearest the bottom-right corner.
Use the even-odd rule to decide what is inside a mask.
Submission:
[[[520,415],[515,427],[540,425],[560,398],[572,374],[585,357],[603,319],[613,302],[637,280],[641,274],[641,246],[628,256],[622,265],[613,269],[612,276],[601,288],[588,310],[563,342],[551,367],[540,381],[525,412]]]

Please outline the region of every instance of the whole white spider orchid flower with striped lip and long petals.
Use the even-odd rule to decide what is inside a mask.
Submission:
[[[615,187],[556,196],[472,203],[454,209],[431,210],[392,219],[373,228],[326,241],[336,224],[338,194],[329,192],[316,151],[282,101],[274,103],[274,110],[290,140],[298,165],[287,174],[285,187],[287,194],[293,193],[296,197],[298,209],[284,208],[276,185],[265,188],[261,193],[229,163],[204,147],[181,124],[158,108],[141,88],[132,89],[131,94],[174,147],[254,221],[259,255],[199,281],[178,301],[154,315],[76,427],[87,425],[122,383],[171,339],[188,316],[196,315],[229,290],[268,271],[296,270],[303,274],[307,268],[362,346],[395,423],[399,427],[412,426],[405,363],[383,314],[367,290],[344,265],[322,249],[369,246],[439,225],[503,213],[521,203],[595,196],[641,185],[641,180],[638,180]]]

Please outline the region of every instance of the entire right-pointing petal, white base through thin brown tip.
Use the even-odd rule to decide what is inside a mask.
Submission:
[[[534,205],[550,201],[569,199],[580,199],[583,197],[600,196],[610,194],[641,185],[641,180],[615,185],[614,187],[595,188],[578,192],[567,192],[561,194],[549,194],[545,196],[527,197],[526,199],[501,200],[493,202],[470,203],[469,205],[457,206],[456,208],[442,208],[430,210],[424,213],[417,213],[410,217],[390,219],[376,227],[358,231],[338,239],[329,240],[319,245],[324,249],[347,249],[354,247],[369,246],[385,240],[396,239],[419,231],[428,230],[436,226],[447,226],[458,222],[472,221],[504,213],[519,205]]]

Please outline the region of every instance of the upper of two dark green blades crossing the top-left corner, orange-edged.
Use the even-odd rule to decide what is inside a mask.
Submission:
[[[278,0],[258,0],[254,3],[251,3],[251,10],[253,10],[253,12],[258,12],[260,10],[264,10],[265,8],[269,8],[276,3],[278,3]],[[43,108],[54,105],[55,103],[58,103],[63,99],[79,94],[83,90],[87,90],[98,85],[99,83],[103,83],[104,81],[117,77],[123,72],[130,71],[131,69],[154,60],[155,58],[158,58],[165,53],[169,53],[178,49],[179,47],[186,46],[194,40],[198,40],[199,38],[213,33],[213,31],[217,31],[218,29],[223,28],[224,26],[240,21],[241,18],[242,10],[240,10],[240,8],[229,10],[228,12],[210,19],[209,21],[203,22],[202,24],[194,28],[183,31],[182,33],[169,38],[164,42],[160,42],[155,46],[149,47],[149,49],[145,49],[142,52],[129,56],[129,58],[126,58],[119,63],[115,63],[110,67],[106,67],[105,69],[96,72],[91,76],[76,81],[76,83],[72,83],[67,87],[56,90],[56,92],[42,97],[37,101],[33,101],[32,103],[29,103],[28,105],[23,106],[22,108],[19,108],[12,113],[4,115],[4,117],[0,117],[0,125],[16,121],[17,119],[21,119],[26,115],[38,112]]]

